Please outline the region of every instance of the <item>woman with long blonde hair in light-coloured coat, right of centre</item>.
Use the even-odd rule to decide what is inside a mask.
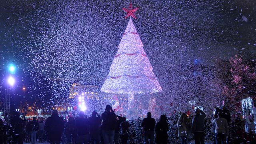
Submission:
[[[182,113],[177,122],[178,137],[180,137],[182,144],[187,144],[187,137],[188,137],[187,122],[188,122],[187,115],[185,113]]]

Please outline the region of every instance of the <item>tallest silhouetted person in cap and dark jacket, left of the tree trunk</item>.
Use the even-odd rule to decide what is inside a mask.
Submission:
[[[115,134],[115,122],[116,114],[112,110],[110,105],[106,105],[105,112],[101,115],[102,117],[102,135],[104,139],[104,144],[113,144],[114,143],[114,134]]]

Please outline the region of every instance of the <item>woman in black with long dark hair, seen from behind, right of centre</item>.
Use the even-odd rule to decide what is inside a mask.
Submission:
[[[167,122],[166,116],[162,114],[160,116],[159,122],[156,123],[156,144],[167,144],[169,124]]]

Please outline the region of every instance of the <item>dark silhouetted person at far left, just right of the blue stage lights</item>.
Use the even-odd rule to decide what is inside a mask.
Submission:
[[[24,118],[25,120],[25,118]],[[12,125],[12,144],[23,144],[23,127],[25,125],[25,121],[20,118],[20,113],[15,112],[13,118],[10,120],[10,124]]]

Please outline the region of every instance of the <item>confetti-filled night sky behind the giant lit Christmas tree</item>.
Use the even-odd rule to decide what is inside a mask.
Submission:
[[[73,82],[102,86],[128,24],[122,7],[128,8],[129,2],[2,1],[2,77],[6,66],[14,63],[25,73],[35,72],[53,80],[52,90],[61,91],[63,96]],[[198,62],[211,67],[216,60],[227,61],[235,54],[250,61],[255,59],[254,0],[132,0],[132,3],[134,8],[139,7],[135,12],[138,19],[133,22],[164,96],[173,95],[172,90],[182,85],[173,85],[182,80],[173,76],[177,68],[184,70]],[[190,73],[184,70],[183,75]]]

